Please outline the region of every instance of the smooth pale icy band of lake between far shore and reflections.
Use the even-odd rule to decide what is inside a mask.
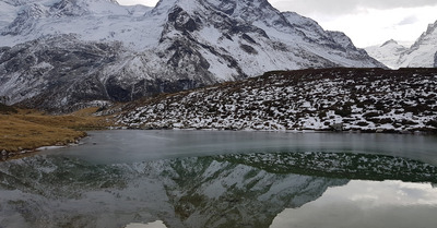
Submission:
[[[99,131],[62,151],[96,164],[232,153],[352,152],[418,159],[437,166],[437,136],[237,131]],[[50,154],[59,154],[55,151]]]

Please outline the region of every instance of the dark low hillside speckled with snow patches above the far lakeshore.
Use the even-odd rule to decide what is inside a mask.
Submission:
[[[270,72],[123,107],[135,129],[414,132],[437,129],[437,70]]]

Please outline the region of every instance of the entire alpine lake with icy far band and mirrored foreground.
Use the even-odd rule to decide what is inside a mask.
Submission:
[[[0,161],[0,228],[434,228],[437,136],[88,132]]]

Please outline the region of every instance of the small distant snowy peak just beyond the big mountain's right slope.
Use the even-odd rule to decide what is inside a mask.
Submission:
[[[381,46],[371,46],[366,48],[368,55],[382,62],[391,69],[399,68],[399,58],[406,52],[408,48],[398,41],[390,39]]]

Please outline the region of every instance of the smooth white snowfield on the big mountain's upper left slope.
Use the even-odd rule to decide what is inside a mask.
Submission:
[[[17,8],[14,21],[1,31],[3,36],[1,46],[14,46],[46,36],[75,34],[82,40],[117,40],[126,43],[126,46],[131,48],[135,43],[134,48],[138,49],[144,48],[139,39],[153,36],[143,26],[144,23],[153,24],[143,16],[151,10],[146,7],[121,7],[109,0],[35,2]],[[145,35],[141,35],[142,33]]]

